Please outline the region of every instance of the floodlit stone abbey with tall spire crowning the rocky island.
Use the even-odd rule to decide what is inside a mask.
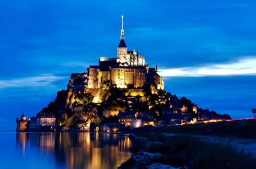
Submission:
[[[124,41],[122,16],[121,40],[117,48],[117,57],[100,57],[99,65],[90,66],[86,73],[73,73],[68,83],[69,89],[100,88],[103,83],[118,88],[164,89],[162,77],[158,74],[157,66],[149,68],[145,57],[138,51],[128,50]]]

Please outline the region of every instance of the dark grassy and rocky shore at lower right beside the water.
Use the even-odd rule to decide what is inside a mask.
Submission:
[[[234,137],[222,140],[224,137],[218,136],[218,133],[198,137],[191,131],[168,136],[169,133],[165,133],[165,129],[161,132],[161,129],[146,127],[131,131],[129,138],[132,147],[129,150],[133,155],[118,168],[253,168],[256,165],[256,155],[246,149],[250,147],[250,142],[241,142],[241,138],[230,142],[229,139]],[[211,140],[212,136],[219,140]],[[237,147],[237,144],[241,144],[241,147]]]

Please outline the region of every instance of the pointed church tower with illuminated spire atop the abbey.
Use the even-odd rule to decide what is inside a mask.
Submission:
[[[123,16],[122,17],[122,28],[121,28],[121,36],[120,36],[120,42],[118,45],[118,58],[117,62],[120,66],[128,66],[130,58],[127,55],[127,46],[124,41],[124,29],[123,29]]]

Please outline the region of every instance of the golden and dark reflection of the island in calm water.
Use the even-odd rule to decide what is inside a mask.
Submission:
[[[17,133],[16,144],[23,156],[38,147],[66,168],[117,168],[132,155],[127,136],[109,133]]]

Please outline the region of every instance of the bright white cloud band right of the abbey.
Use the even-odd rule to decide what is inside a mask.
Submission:
[[[159,74],[168,76],[227,76],[256,75],[256,57],[240,58],[234,62],[205,64],[204,66],[159,69]]]

